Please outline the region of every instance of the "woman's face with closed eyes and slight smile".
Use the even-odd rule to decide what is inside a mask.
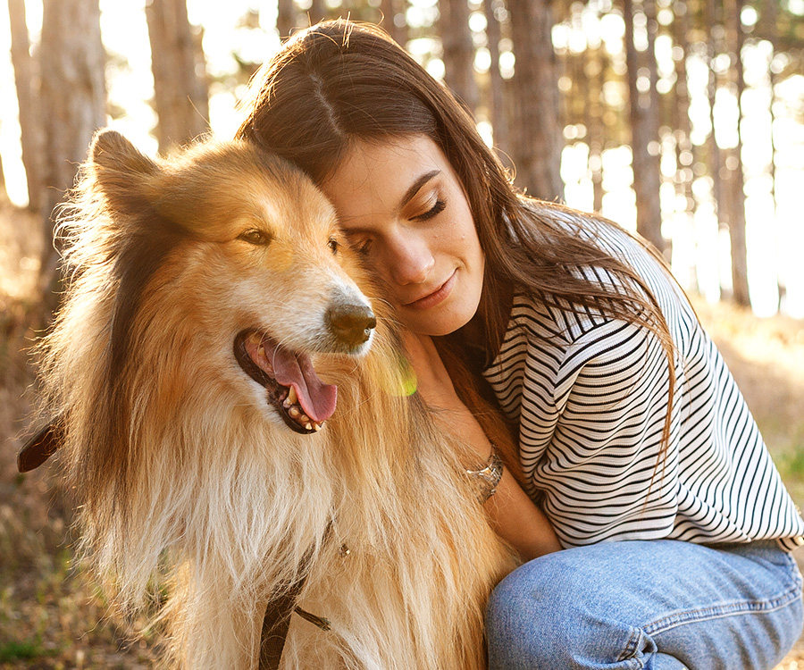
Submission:
[[[430,138],[361,140],[322,188],[408,330],[446,335],[473,317],[483,253],[464,189]]]

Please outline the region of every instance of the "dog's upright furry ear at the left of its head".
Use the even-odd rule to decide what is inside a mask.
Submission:
[[[100,130],[89,147],[88,171],[113,213],[138,214],[160,168],[119,132]]]

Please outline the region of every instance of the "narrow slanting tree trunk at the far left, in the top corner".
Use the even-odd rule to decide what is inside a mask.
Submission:
[[[39,212],[44,198],[42,182],[42,124],[38,108],[38,77],[30,55],[28,23],[25,21],[25,0],[8,0],[11,27],[11,56],[14,85],[20,110],[22,164],[28,187],[28,207]]]

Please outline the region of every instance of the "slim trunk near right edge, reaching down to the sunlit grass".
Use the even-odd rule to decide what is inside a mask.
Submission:
[[[742,46],[745,36],[742,32],[740,0],[727,0],[726,17],[729,26],[728,32],[733,44],[734,79],[737,85],[737,147],[730,154],[732,160],[727,163],[729,182],[731,184],[732,215],[729,221],[729,240],[732,250],[732,286],[733,301],[740,306],[749,307],[751,304],[748,283],[748,250],[745,239],[745,174],[742,169],[742,94],[745,91],[745,76],[742,66]],[[730,50],[731,51],[731,50]]]

